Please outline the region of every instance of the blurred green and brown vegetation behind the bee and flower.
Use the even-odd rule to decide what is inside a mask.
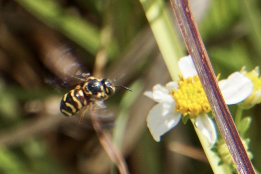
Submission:
[[[220,79],[261,64],[260,1],[200,0],[191,8]],[[0,173],[111,172],[91,123],[59,110],[81,73],[120,77],[115,85],[132,89],[106,100],[113,123],[104,125],[131,173],[213,173],[191,123],[159,143],[146,127],[155,102],[143,92],[171,79],[138,0],[0,0]],[[259,171],[260,113],[260,105],[244,112],[253,118],[247,137]]]

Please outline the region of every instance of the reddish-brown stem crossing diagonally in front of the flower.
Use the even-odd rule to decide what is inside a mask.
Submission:
[[[176,19],[203,85],[218,128],[223,136],[238,173],[255,173],[227,105],[224,102],[205,46],[200,37],[187,0],[170,0]]]

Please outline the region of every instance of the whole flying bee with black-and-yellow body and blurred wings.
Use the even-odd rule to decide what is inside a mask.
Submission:
[[[95,114],[102,119],[113,115],[106,113],[104,100],[115,93],[116,87],[122,86],[114,85],[116,79],[110,81],[91,76],[90,73],[87,73],[87,67],[81,63],[80,59],[74,55],[73,50],[67,45],[57,46],[48,53],[48,56],[43,60],[43,70],[46,77],[45,82],[53,87],[69,88],[76,86],[64,94],[61,100],[60,111],[63,115],[69,117],[83,110],[80,117],[81,123],[90,106],[92,106],[92,110],[99,110]]]

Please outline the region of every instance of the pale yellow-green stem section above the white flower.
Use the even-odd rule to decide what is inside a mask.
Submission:
[[[177,61],[184,55],[182,44],[177,39],[168,8],[162,0],[140,0],[150,23],[159,50],[173,80],[177,80],[179,69]]]

